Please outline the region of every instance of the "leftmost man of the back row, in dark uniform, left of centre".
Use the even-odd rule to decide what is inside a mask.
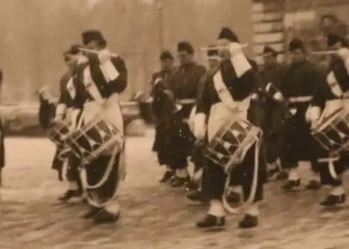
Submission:
[[[172,80],[177,68],[174,66],[174,57],[170,51],[163,51],[160,56],[161,70],[154,73],[151,79],[151,107],[156,118],[155,139],[152,151],[156,152],[158,163],[165,167],[165,174],[161,183],[170,181],[174,176],[174,169],[168,164],[168,151],[171,144],[168,142],[168,122],[174,112],[174,100],[170,92],[169,82]]]

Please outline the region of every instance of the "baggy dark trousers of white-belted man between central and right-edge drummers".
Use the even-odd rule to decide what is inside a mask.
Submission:
[[[315,139],[311,135],[310,124],[304,120],[304,112],[286,120],[281,141],[281,164],[285,169],[297,167],[300,161],[310,161],[313,172],[318,172],[318,153],[314,150]]]

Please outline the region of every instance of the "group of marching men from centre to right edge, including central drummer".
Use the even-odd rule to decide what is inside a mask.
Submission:
[[[343,96],[349,89],[349,50],[346,40],[334,34],[327,46],[332,58],[326,70],[307,59],[299,39],[288,45],[290,65],[277,63],[276,51],[265,47],[265,64],[258,69],[228,28],[207,50],[207,71],[193,61],[190,43],[178,44],[178,68],[170,52],[161,54],[162,70],[152,80],[153,150],[166,167],[161,182],[186,186],[190,199],[209,204],[198,227],[224,227],[225,213],[237,211],[227,205],[229,199],[245,203],[239,227],[255,227],[268,177],[277,174],[285,180],[284,190],[295,190],[301,186],[303,161],[311,163],[308,190],[332,186],[322,206],[345,202],[341,175],[349,164],[349,133],[342,128],[338,139],[339,129],[332,126],[348,128]],[[191,177],[187,158],[195,165]]]

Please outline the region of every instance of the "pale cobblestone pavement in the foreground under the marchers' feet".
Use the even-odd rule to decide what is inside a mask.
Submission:
[[[122,217],[98,227],[81,218],[86,206],[57,203],[65,186],[50,169],[54,147],[47,139],[7,139],[0,248],[349,248],[348,209],[318,206],[328,190],[284,194],[279,183],[267,186],[260,227],[236,229],[241,216],[229,216],[224,232],[198,231],[195,220],[205,206],[188,202],[184,190],[158,185],[162,169],[151,155],[149,136],[128,139],[128,176],[119,190]]]

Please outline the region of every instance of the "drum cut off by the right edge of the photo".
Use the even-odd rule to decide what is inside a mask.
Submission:
[[[342,151],[349,152],[349,112],[340,108],[326,116],[315,126],[311,135],[330,155],[339,155]]]

